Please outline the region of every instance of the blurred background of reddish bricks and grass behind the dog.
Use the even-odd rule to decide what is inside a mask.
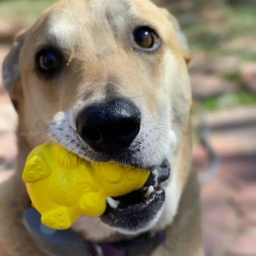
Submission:
[[[13,36],[53,2],[0,0],[0,65]],[[256,0],[155,2],[176,15],[193,54],[193,153],[203,177],[206,255],[255,256]],[[0,182],[12,176],[16,123],[0,80]]]

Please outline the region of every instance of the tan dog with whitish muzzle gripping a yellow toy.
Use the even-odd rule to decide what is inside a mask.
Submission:
[[[3,81],[19,115],[19,156],[14,177],[1,185],[1,255],[47,255],[22,220],[30,202],[21,173],[44,142],[151,172],[144,188],[112,198],[99,218],[76,221],[72,230],[84,241],[132,243],[164,230],[152,252],[133,255],[204,255],[189,60],[177,20],[148,0],[60,1],[16,36]]]

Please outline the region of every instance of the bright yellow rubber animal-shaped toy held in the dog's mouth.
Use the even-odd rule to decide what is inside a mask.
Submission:
[[[57,144],[43,144],[29,154],[22,179],[44,225],[66,229],[83,214],[100,216],[108,196],[140,189],[148,176],[146,170],[92,163]]]

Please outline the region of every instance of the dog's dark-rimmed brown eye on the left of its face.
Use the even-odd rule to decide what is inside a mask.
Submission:
[[[44,76],[54,76],[63,66],[63,58],[55,49],[43,49],[36,54],[36,69]]]

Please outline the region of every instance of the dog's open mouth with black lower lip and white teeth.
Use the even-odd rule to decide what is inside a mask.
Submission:
[[[118,196],[108,197],[108,207],[100,219],[111,227],[124,232],[138,232],[151,228],[157,213],[163,207],[164,181],[170,177],[170,164],[164,161],[150,170],[146,184],[139,190]]]

